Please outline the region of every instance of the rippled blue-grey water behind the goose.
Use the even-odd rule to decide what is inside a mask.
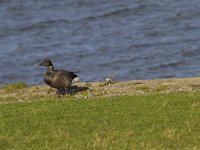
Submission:
[[[82,81],[200,75],[199,0],[0,0],[0,84],[43,83],[43,58]]]

